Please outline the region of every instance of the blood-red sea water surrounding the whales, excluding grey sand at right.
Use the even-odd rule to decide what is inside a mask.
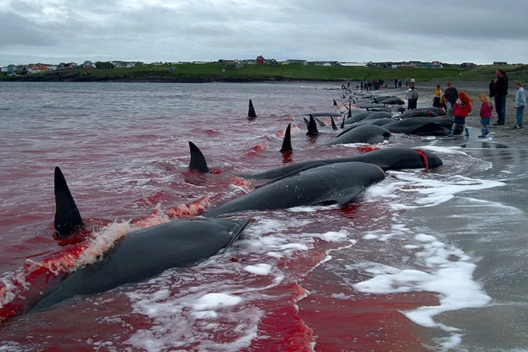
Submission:
[[[94,257],[102,254],[104,246],[91,242],[94,234],[118,238],[137,227],[197,215],[251,191],[256,183],[238,176],[244,172],[370,150],[370,146],[321,148],[333,136],[329,127],[321,128],[325,134],[318,139],[304,135],[304,115],[339,108],[332,106],[337,92],[324,87],[1,84],[4,346],[39,351],[423,348],[421,329],[399,310],[434,305],[434,296],[360,294],[345,287],[341,274],[323,263],[329,253],[349,251],[350,240],[362,241],[365,231],[391,225],[391,210],[363,204],[361,199],[343,209],[250,213],[256,218],[248,229],[250,240],[239,241],[198,268],[174,270],[153,283],[130,284],[27,313],[42,292],[80,265],[89,246]],[[250,98],[259,115],[251,121],[246,118]],[[329,118],[322,120],[329,125]],[[278,150],[289,122],[294,152],[283,155]],[[213,172],[196,175],[187,170],[188,141],[199,146]],[[53,237],[55,165],[63,170],[83,218],[91,219],[90,234],[79,243],[65,244]],[[344,229],[351,238],[326,241],[310,236]],[[288,244],[295,246],[289,249]],[[156,260],[156,253],[145,256]],[[352,258],[357,260],[358,253]],[[276,270],[275,281],[244,270],[259,263]],[[359,282],[365,277],[351,273],[346,279]],[[158,306],[150,311],[141,308],[145,300],[165,291],[167,296],[156,298]],[[193,318],[196,302],[189,303],[189,296],[216,291],[243,298],[241,307],[221,308],[222,314],[212,320]],[[171,304],[176,305],[173,311]],[[148,338],[141,341],[143,336]]]

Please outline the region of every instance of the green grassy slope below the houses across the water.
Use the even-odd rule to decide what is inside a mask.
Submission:
[[[261,80],[364,81],[382,79],[391,85],[395,77],[420,82],[480,81],[495,77],[498,66],[474,68],[363,68],[314,65],[234,65],[222,63],[143,65],[135,68],[73,69],[16,77],[4,81],[121,81],[121,82],[253,82]],[[510,80],[528,82],[528,65],[501,66]]]

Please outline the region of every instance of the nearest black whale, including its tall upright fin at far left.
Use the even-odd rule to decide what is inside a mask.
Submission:
[[[65,238],[84,226],[61,169],[55,168],[58,237]],[[58,215],[57,215],[58,214]],[[139,282],[170,268],[196,265],[239,238],[249,220],[193,219],[165,222],[127,234],[101,260],[66,275],[32,308],[42,310],[67,298],[96,294],[122,284]]]

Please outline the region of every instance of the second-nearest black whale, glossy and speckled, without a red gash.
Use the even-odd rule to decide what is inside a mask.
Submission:
[[[384,178],[384,171],[373,164],[349,162],[320,165],[274,180],[203,213],[203,216],[211,218],[246,210],[286,209],[325,203],[344,205]]]

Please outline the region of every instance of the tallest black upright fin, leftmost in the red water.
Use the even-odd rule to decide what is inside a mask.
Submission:
[[[62,239],[82,229],[84,222],[82,222],[81,214],[73,200],[63,172],[58,166],[55,167],[54,189],[55,231],[56,237]]]

